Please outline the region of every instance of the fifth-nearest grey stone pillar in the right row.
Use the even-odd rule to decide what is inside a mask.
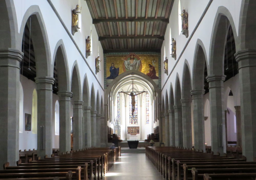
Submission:
[[[183,147],[181,106],[174,105],[173,108],[175,116],[175,145],[178,147]]]

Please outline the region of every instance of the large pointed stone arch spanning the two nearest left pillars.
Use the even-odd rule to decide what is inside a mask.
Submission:
[[[51,53],[46,26],[41,14],[40,8],[37,5],[30,6],[23,16],[20,27],[18,46],[22,47],[22,39],[25,25],[31,17],[31,39],[35,51],[36,59],[36,76],[50,76],[53,71],[50,70],[51,66]],[[36,41],[35,41],[36,40]]]

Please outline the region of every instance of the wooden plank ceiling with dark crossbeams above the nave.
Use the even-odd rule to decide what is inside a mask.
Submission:
[[[160,52],[174,0],[86,0],[104,53]]]

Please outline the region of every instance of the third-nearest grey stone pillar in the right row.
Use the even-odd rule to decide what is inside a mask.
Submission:
[[[205,121],[204,121],[204,92],[205,90],[191,90],[194,120],[194,146],[195,149],[205,152]]]

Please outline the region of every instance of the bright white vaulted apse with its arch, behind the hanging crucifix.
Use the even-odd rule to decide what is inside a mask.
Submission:
[[[136,117],[132,116],[131,92],[134,92],[135,95],[138,94],[135,97],[134,115],[137,113]],[[157,94],[158,97],[156,97]],[[120,116],[120,121],[116,121],[116,131],[119,131],[122,140],[147,139],[147,135],[153,133],[153,128],[158,126],[154,123],[157,117],[154,109],[157,106],[156,98],[161,97],[159,94],[158,87],[147,75],[135,70],[120,74],[105,91],[104,101],[106,104],[113,102],[112,106],[109,106],[112,107],[110,109],[112,116],[109,116],[110,121],[107,123],[107,126],[111,127],[111,122],[115,122],[115,119],[119,120]],[[109,96],[112,97],[111,101],[108,100]],[[105,108],[104,111],[106,110]],[[149,111],[148,116],[147,111]],[[109,113],[104,114],[109,115]],[[149,121],[146,120],[147,117]],[[128,129],[128,127],[131,129]],[[136,128],[136,131],[133,128]]]

